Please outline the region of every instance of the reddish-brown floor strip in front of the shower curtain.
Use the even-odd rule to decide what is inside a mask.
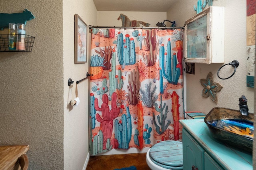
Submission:
[[[114,170],[136,166],[137,170],[150,170],[146,153],[90,156],[86,170]]]

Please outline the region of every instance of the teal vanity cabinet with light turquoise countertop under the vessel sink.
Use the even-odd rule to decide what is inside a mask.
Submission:
[[[204,119],[180,120],[184,170],[252,170],[252,154],[211,136]]]

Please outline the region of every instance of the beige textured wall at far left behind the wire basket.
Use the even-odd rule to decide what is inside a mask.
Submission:
[[[63,169],[62,1],[0,4],[1,13],[27,8],[36,17],[26,24],[32,52],[0,53],[0,145],[30,145],[30,170]]]

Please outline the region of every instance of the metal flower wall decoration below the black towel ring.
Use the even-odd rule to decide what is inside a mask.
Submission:
[[[205,98],[208,98],[210,96],[212,101],[218,104],[218,97],[216,92],[219,92],[223,87],[219,83],[214,82],[212,72],[209,72],[206,79],[201,79],[200,83],[204,87],[202,91],[202,96]]]

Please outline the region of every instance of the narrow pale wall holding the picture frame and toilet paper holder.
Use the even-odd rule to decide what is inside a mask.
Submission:
[[[87,25],[95,25],[96,8],[92,0],[63,1],[64,44],[64,169],[82,170],[89,160],[88,79],[77,86],[80,104],[72,107],[68,103],[75,96],[76,83],[68,86],[68,78],[74,82],[86,77],[90,63],[89,49],[85,64],[74,64],[74,14],[78,14]],[[90,34],[88,35],[88,46]]]

